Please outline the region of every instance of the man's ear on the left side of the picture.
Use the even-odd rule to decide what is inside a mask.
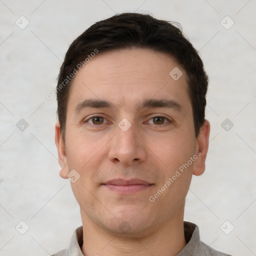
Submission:
[[[55,144],[58,150],[58,163],[61,167],[59,175],[62,178],[67,178],[68,164],[66,159],[65,141],[62,138],[60,123],[58,121],[55,124]]]

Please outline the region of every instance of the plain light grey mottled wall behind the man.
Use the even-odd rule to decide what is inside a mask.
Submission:
[[[81,224],[69,180],[58,175],[56,100],[46,94],[73,39],[125,11],[180,22],[199,50],[210,78],[211,133],[184,217],[213,248],[256,255],[255,10],[255,0],[0,0],[0,255],[49,255],[66,248]],[[234,124],[222,124],[227,131],[226,118]],[[23,235],[21,220],[29,226]]]

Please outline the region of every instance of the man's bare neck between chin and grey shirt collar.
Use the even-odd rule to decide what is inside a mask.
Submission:
[[[81,212],[82,213],[82,212]],[[183,230],[183,214],[146,234],[122,235],[109,233],[82,214],[84,256],[88,255],[176,255],[186,245]]]

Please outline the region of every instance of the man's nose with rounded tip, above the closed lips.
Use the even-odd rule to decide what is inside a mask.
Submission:
[[[146,159],[146,145],[141,132],[131,125],[126,131],[116,126],[115,135],[110,141],[108,159],[114,163],[132,165]]]

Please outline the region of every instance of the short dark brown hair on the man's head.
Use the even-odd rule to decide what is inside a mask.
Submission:
[[[173,22],[174,23],[174,22]],[[204,122],[208,76],[202,60],[184,37],[177,23],[149,14],[121,13],[100,20],[79,35],[69,46],[58,75],[57,115],[64,138],[67,100],[72,78],[81,65],[97,52],[140,47],[172,55],[186,71],[195,137]],[[93,53],[93,54],[92,54]]]

